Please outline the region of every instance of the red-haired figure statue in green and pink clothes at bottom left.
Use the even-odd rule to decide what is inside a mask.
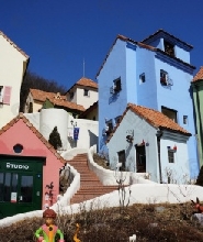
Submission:
[[[35,232],[35,237],[38,239],[37,241],[55,242],[56,234],[59,234],[60,240],[58,242],[65,242],[64,234],[58,229],[58,227],[54,224],[54,220],[56,219],[56,212],[53,209],[48,208],[43,212],[43,218],[45,219],[45,224],[43,224]]]

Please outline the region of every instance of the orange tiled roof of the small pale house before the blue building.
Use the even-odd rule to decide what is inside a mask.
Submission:
[[[159,112],[155,109],[149,109],[149,108],[146,108],[146,107],[143,107],[143,106],[136,106],[136,105],[133,105],[133,103],[127,105],[127,108],[124,111],[124,113],[121,118],[121,121],[125,117],[125,114],[128,110],[132,110],[134,113],[142,117],[148,123],[150,123],[153,127],[155,127],[157,129],[159,128],[160,130],[168,130],[168,131],[171,131],[171,132],[181,133],[181,134],[191,136],[190,132],[184,130],[182,127],[180,127],[178,123],[176,123],[174,121],[169,119],[163,113],[161,113],[161,112]],[[120,123],[117,123],[117,125],[115,127],[115,129],[113,130],[111,135],[109,136],[108,142],[111,140],[111,138],[113,136],[113,133],[115,132],[115,130],[117,129],[119,125],[120,125]]]

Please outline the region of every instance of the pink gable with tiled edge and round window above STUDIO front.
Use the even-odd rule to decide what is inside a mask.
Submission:
[[[0,153],[15,154],[13,146],[21,144],[23,156],[50,156],[59,163],[66,161],[56,152],[56,150],[44,139],[44,136],[29,122],[26,118],[20,114],[10,123],[0,130]]]

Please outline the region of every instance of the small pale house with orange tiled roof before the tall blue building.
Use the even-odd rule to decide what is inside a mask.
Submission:
[[[109,132],[106,145],[111,167],[148,173],[160,183],[189,179],[187,142],[191,134],[159,111],[128,103],[116,128]]]

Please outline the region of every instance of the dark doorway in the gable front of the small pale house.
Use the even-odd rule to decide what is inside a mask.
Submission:
[[[137,173],[146,173],[145,145],[136,145],[136,166]]]

